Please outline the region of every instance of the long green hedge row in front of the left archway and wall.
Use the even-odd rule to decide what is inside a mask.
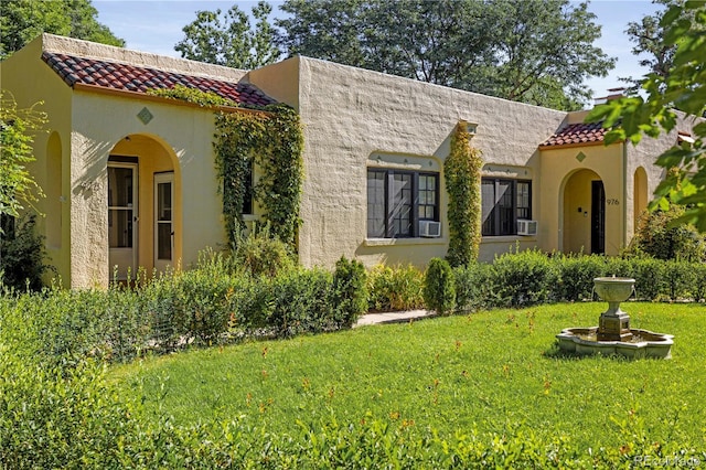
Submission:
[[[26,314],[39,339],[34,353],[107,361],[188,344],[333,331],[351,327],[367,307],[365,270],[345,258],[334,273],[292,268],[268,277],[233,273],[212,254],[196,269],[136,284],[7,293],[0,303]]]

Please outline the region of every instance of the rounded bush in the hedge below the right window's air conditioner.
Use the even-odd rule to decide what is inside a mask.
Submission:
[[[490,280],[492,302],[521,307],[555,301],[559,273],[556,263],[537,249],[495,258]]]

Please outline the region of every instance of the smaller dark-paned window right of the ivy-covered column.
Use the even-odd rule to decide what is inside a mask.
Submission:
[[[532,218],[532,182],[483,178],[483,236],[516,235],[517,218]]]

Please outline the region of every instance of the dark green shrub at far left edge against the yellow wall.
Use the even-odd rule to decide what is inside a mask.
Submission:
[[[45,263],[44,237],[35,226],[34,214],[19,220],[0,214],[0,286],[18,291],[42,288],[42,276],[52,267]]]

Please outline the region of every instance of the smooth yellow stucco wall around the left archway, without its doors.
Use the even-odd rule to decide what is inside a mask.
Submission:
[[[142,124],[137,115],[153,115]],[[152,174],[174,170],[174,263],[188,267],[199,250],[224,243],[213,157],[213,111],[141,99],[76,92],[72,136],[72,269],[79,286],[106,282],[108,268],[107,162],[110,153],[140,159],[140,195]],[[130,142],[125,137],[130,136]],[[135,154],[137,153],[137,154]],[[140,264],[151,267],[152,201],[140,205]]]

